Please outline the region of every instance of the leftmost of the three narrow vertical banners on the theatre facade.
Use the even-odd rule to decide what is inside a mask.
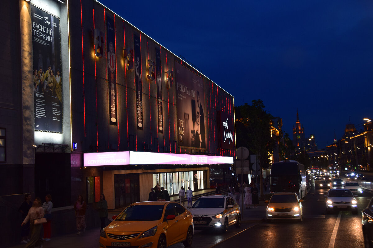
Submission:
[[[109,80],[110,125],[117,125],[116,112],[116,56],[114,20],[106,16],[107,77]]]

